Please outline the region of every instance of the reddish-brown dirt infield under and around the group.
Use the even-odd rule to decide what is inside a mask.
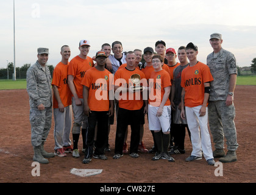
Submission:
[[[238,135],[238,161],[223,164],[223,176],[215,176],[219,167],[209,166],[202,160],[186,162],[191,153],[188,134],[185,138],[186,154],[173,155],[175,162],[167,160],[151,161],[152,154],[140,154],[133,159],[129,155],[113,160],[115,142],[115,124],[110,132],[108,160],[93,159],[88,165],[82,164],[80,158],[54,157],[48,165],[40,165],[40,177],[32,176],[33,150],[30,143],[29,97],[26,90],[0,91],[0,182],[1,183],[254,183],[255,170],[255,114],[256,86],[236,86],[236,129]],[[52,129],[45,144],[46,151],[54,150]],[[144,126],[144,144],[152,147],[152,135],[148,121]],[[129,131],[130,136],[130,131]],[[82,138],[79,141],[82,150]],[[129,143],[129,140],[128,140]],[[216,159],[218,161],[218,159]],[[70,173],[72,168],[103,169],[101,174],[79,177]]]

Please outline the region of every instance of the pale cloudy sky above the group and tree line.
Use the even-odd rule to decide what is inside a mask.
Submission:
[[[235,55],[238,66],[251,66],[256,57],[254,0],[16,0],[15,39],[13,0],[0,0],[0,5],[0,68],[14,61],[14,50],[16,67],[34,64],[40,47],[49,48],[48,65],[55,66],[64,44],[71,48],[71,60],[83,39],[90,41],[90,57],[116,40],[123,51],[155,49],[158,40],[177,51],[193,42],[197,60],[206,63],[215,32],[222,34],[222,48]]]

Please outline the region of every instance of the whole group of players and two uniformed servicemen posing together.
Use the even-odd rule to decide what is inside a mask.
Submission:
[[[155,43],[155,52],[151,47],[123,52],[122,43],[114,41],[112,45],[102,44],[101,51],[88,57],[90,41],[80,40],[80,53],[70,62],[69,46],[62,46],[62,60],[52,78],[46,66],[49,49],[38,48],[38,60],[27,70],[33,160],[49,163],[48,158],[66,157],[67,152],[80,157],[81,132],[83,163],[90,163],[92,158],[107,160],[108,134],[116,113],[113,159],[128,152],[138,158],[140,151],[153,153],[152,160],[174,161],[173,154],[185,154],[187,128],[193,150],[186,161],[202,159],[202,155],[208,165],[215,165],[214,158],[224,163],[236,161],[236,59],[222,48],[221,34],[210,35],[210,44],[213,52],[205,65],[197,60],[198,48],[193,43],[180,46],[176,52],[166,49],[165,41],[160,40]],[[52,107],[54,153],[43,147],[51,129]],[[154,140],[150,150],[142,141],[145,115]],[[73,141],[69,138],[71,130]]]

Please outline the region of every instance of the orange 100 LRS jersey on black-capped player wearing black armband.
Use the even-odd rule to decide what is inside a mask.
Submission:
[[[181,87],[185,88],[185,106],[196,107],[204,102],[204,83],[213,80],[210,69],[202,62],[182,71]]]

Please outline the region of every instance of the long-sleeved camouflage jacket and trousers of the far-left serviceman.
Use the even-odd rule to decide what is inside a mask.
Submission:
[[[27,70],[27,93],[29,94],[32,146],[40,146],[48,137],[52,121],[51,73],[48,66],[45,72],[37,61]],[[43,104],[45,109],[38,110]]]

